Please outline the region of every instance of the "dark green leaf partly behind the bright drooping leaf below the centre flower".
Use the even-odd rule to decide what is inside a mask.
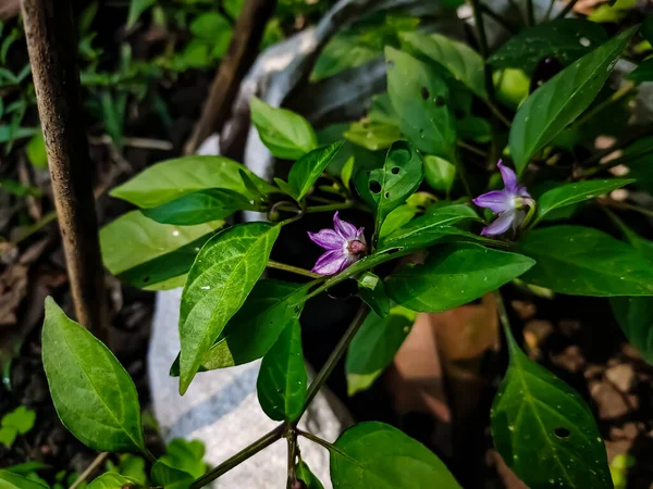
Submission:
[[[296,284],[259,280],[204,358],[201,367],[212,371],[262,358],[281,331],[299,318],[304,304],[289,304],[306,296],[307,290]],[[178,375],[178,364],[176,368],[173,365],[171,375]]]

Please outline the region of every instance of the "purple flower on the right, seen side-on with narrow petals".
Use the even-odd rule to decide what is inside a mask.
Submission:
[[[526,206],[533,206],[534,201],[526,187],[517,183],[517,175],[503,162],[498,162],[498,170],[504,180],[503,190],[492,190],[472,200],[479,208],[490,209],[498,217],[481,231],[481,236],[496,236],[507,231],[513,226],[513,233],[523,223]]]

